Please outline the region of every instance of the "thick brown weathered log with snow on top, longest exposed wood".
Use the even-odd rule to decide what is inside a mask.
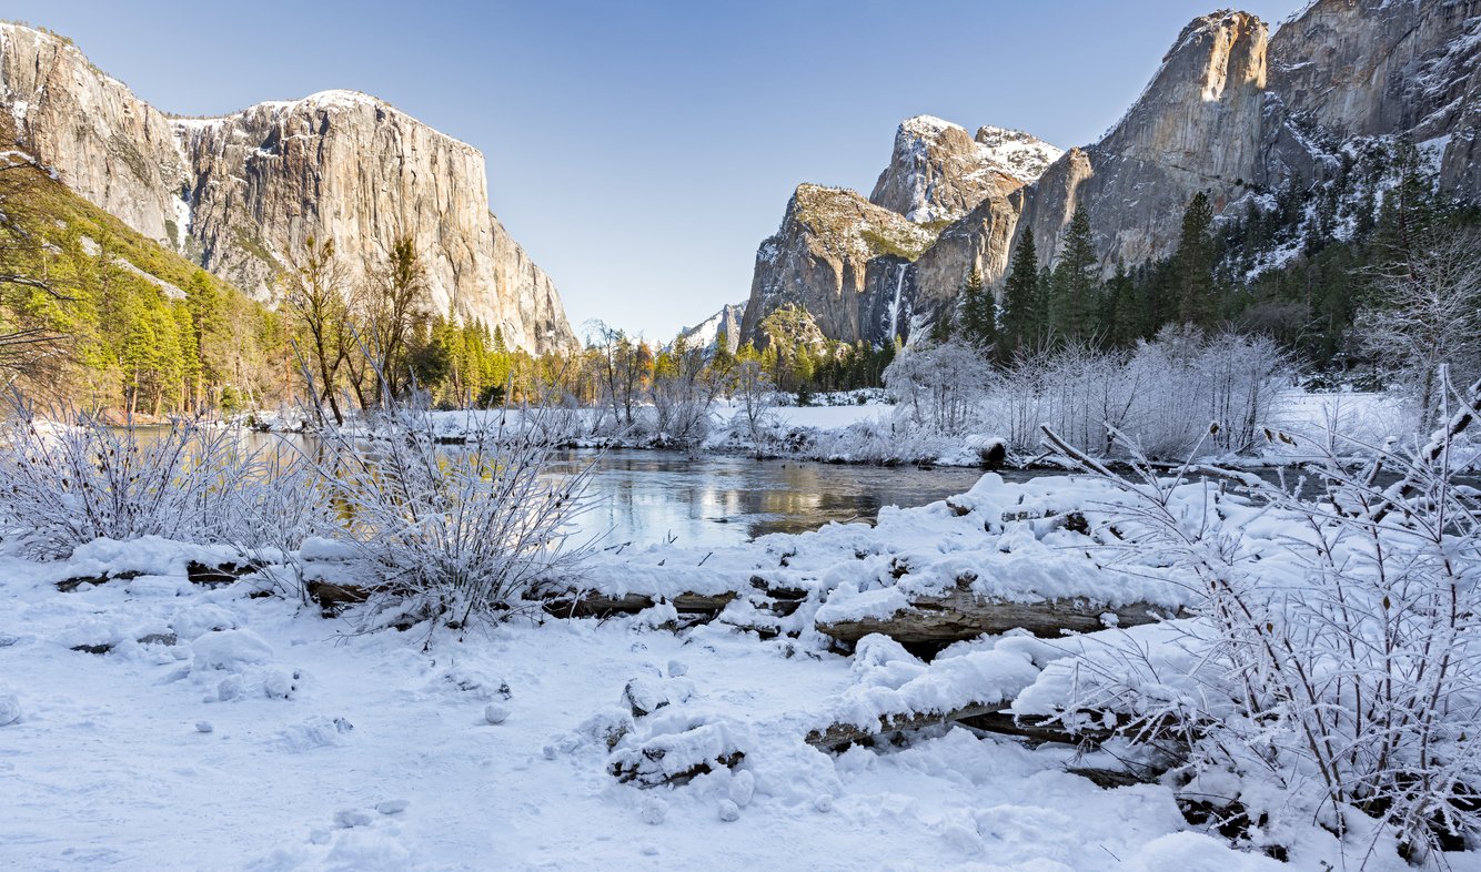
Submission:
[[[1102,614],[1114,614],[1117,626],[1177,616],[1146,603],[1115,608],[1084,598],[1012,603],[957,588],[940,597],[921,597],[889,617],[818,622],[816,626],[818,632],[843,643],[878,632],[905,644],[949,644],[1016,628],[1037,637],[1057,637],[1060,631],[1094,632],[1106,628]]]

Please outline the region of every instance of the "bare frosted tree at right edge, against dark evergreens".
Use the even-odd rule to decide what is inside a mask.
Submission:
[[[1363,346],[1410,391],[1422,426],[1440,415],[1441,364],[1456,380],[1481,372],[1481,231],[1429,234],[1413,253],[1370,272],[1382,292],[1358,314]]]

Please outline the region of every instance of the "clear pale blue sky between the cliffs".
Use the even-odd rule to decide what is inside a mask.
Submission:
[[[1243,7],[1274,25],[1300,0]],[[10,0],[156,107],[350,87],[480,148],[493,210],[588,318],[666,339],[743,301],[798,182],[868,194],[933,114],[1097,138],[1186,0]]]

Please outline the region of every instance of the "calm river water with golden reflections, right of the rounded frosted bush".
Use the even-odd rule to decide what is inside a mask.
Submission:
[[[570,452],[557,472],[573,472],[591,459],[591,452]],[[880,506],[926,505],[963,493],[980,477],[980,469],[619,450],[597,459],[594,508],[581,526],[591,533],[610,530],[610,542],[733,545],[767,533],[816,530],[828,521],[872,520]]]

